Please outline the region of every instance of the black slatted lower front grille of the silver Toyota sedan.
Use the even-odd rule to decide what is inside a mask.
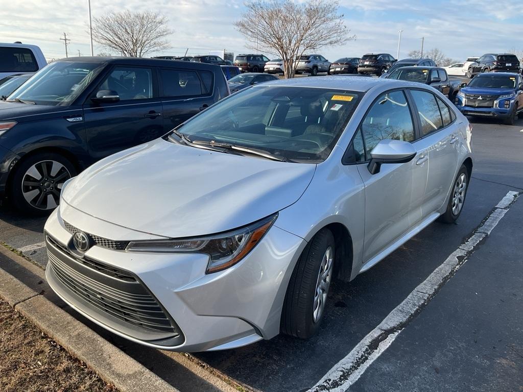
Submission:
[[[49,262],[56,279],[79,301],[130,328],[170,334],[170,337],[179,335],[174,321],[167,317],[156,298],[135,276],[129,281],[112,276],[104,278],[96,272],[106,274],[107,271],[117,271],[116,275],[122,278],[132,276],[132,273],[89,260],[81,263],[79,258],[71,258],[64,251],[64,246],[56,246],[57,241],[49,236],[47,240]]]

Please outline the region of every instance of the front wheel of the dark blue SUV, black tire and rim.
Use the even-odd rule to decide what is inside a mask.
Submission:
[[[61,166],[54,174],[52,173],[53,162]],[[29,170],[32,170],[33,167],[41,175],[41,178],[38,179],[29,174]],[[74,176],[76,176],[76,169],[70,160],[64,156],[55,153],[32,155],[15,168],[13,177],[7,185],[9,199],[20,212],[31,215],[49,214],[55,208],[55,205],[52,205],[49,199],[49,195],[58,205],[61,185]],[[28,185],[29,183],[35,185]],[[36,191],[39,191],[39,193],[36,193]],[[35,197],[29,201],[26,200],[33,193]]]

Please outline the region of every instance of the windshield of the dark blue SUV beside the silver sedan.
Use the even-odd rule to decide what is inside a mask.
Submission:
[[[51,63],[7,97],[7,100],[20,99],[38,105],[71,105],[103,67],[99,63]]]

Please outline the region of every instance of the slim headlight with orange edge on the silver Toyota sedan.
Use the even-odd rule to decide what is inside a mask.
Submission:
[[[201,238],[131,241],[126,250],[133,252],[206,253],[209,265],[206,273],[234,266],[259,243],[276,221],[278,214],[268,216],[232,232]]]

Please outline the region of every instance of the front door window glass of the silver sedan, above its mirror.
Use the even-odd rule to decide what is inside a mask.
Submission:
[[[365,140],[367,159],[370,158],[370,152],[380,140],[414,141],[414,125],[405,93],[391,91],[382,94],[363,119],[359,130]],[[356,145],[355,149],[357,149]]]

